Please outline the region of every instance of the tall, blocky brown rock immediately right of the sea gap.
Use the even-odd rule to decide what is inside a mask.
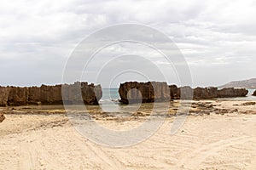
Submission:
[[[119,87],[120,102],[151,103],[170,100],[170,88],[166,82],[125,82]]]

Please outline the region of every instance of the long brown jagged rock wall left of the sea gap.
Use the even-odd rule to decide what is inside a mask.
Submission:
[[[98,105],[102,98],[101,85],[75,82],[68,85],[55,85],[30,88],[0,87],[0,105]],[[64,94],[64,95],[63,95]]]

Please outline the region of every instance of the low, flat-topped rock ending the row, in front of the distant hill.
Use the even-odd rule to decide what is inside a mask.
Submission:
[[[245,97],[248,94],[246,88],[223,88],[218,90],[218,98]]]

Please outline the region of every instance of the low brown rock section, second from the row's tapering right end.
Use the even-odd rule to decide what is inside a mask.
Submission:
[[[213,99],[218,97],[218,88],[195,88],[193,99]]]

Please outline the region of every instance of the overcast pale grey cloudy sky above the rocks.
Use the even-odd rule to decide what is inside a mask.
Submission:
[[[0,1],[2,86],[61,83],[68,59],[84,38],[124,23],[149,26],[169,37],[189,66],[193,86],[218,86],[256,77],[256,2],[253,0]],[[134,51],[137,54],[131,53]],[[175,69],[166,65],[160,54],[140,44],[120,42],[98,55],[104,56],[108,65],[101,68],[105,60],[100,64],[102,58],[96,57],[89,65],[93,67],[90,71],[95,72],[82,72],[82,81],[102,83],[103,87],[113,82],[111,86],[117,87],[125,78],[147,80],[136,71],[119,74],[122,71],[116,69],[118,63],[119,68],[126,69],[139,64],[152,75],[158,67],[171,77],[168,83],[178,84]],[[121,58],[114,60],[113,56],[118,55]],[[143,55],[146,56],[141,58]],[[96,80],[95,75],[102,78]],[[162,81],[157,77],[149,79]]]

